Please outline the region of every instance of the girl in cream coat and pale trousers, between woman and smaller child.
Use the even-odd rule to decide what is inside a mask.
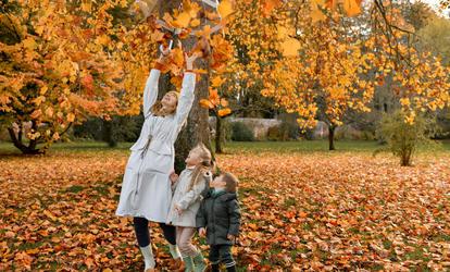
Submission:
[[[167,224],[176,226],[176,245],[182,251],[186,271],[204,271],[207,265],[201,251],[191,244],[196,233],[196,214],[200,207],[201,193],[212,180],[211,152],[200,144],[190,150],[186,169],[171,176],[175,184]]]

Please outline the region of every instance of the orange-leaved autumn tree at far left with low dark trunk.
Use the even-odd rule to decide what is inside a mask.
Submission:
[[[2,5],[0,122],[22,152],[43,152],[78,119],[123,109],[122,70],[109,52],[113,7],[111,1]]]

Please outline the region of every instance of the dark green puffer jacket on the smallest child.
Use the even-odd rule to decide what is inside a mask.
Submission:
[[[240,209],[237,195],[220,191],[205,195],[197,212],[197,227],[207,227],[209,245],[233,245],[227,235],[238,236],[240,227]]]

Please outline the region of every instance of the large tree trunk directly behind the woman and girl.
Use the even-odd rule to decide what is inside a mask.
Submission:
[[[163,16],[165,12],[172,14],[173,9],[179,7],[180,0],[160,1],[159,13]],[[189,37],[183,40],[183,48],[189,51],[197,42],[197,37]],[[174,41],[174,45],[176,42]],[[201,59],[197,60],[195,67],[210,70],[209,62]],[[199,75],[198,75],[199,76]],[[160,95],[167,92],[173,87],[170,83],[170,76],[162,76],[160,82]],[[193,100],[192,109],[189,113],[188,121],[185,127],[178,135],[175,143],[175,172],[179,173],[186,166],[185,159],[190,149],[197,144],[203,143],[211,150],[210,131],[208,125],[208,110],[200,107],[199,101],[202,98],[208,98],[209,75],[201,75],[200,81],[196,83],[196,99]]]

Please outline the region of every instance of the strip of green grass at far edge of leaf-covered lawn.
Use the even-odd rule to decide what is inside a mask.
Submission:
[[[450,140],[440,140],[437,147],[429,149],[428,147],[420,148],[420,153],[434,153],[450,151]],[[118,143],[114,148],[110,148],[108,144],[101,141],[72,141],[58,143],[51,146],[49,153],[52,152],[70,152],[78,153],[86,151],[128,151],[133,143]],[[377,141],[370,140],[336,140],[336,152],[374,152],[380,147]],[[226,153],[235,152],[329,152],[327,140],[298,140],[298,141],[230,141],[225,145]],[[0,154],[20,154],[11,143],[0,141]]]

